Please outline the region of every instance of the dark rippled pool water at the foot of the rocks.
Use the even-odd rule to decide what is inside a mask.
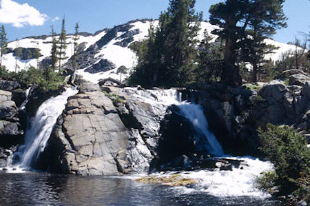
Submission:
[[[134,178],[0,172],[0,205],[280,205],[271,198],[211,196]]]

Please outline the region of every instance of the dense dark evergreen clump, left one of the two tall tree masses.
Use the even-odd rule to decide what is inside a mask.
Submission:
[[[195,0],[170,0],[151,26],[149,38],[134,47],[138,65],[130,83],[143,86],[183,86],[194,80],[196,44],[201,14],[195,14]]]

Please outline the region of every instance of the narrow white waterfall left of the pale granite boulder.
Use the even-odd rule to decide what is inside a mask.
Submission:
[[[14,154],[20,158],[18,163],[20,167],[30,168],[37,162],[40,153],[45,149],[58,116],[65,109],[68,97],[77,92],[78,90],[68,88],[61,95],[42,103],[34,116],[31,127],[25,133],[25,144]]]

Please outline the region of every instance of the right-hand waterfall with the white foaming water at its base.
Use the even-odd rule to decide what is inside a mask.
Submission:
[[[194,137],[196,149],[208,151],[214,156],[220,156],[231,161],[240,161],[238,167],[232,167],[232,171],[217,169],[197,169],[194,171],[180,172],[178,174],[199,180],[193,187],[183,187],[178,192],[184,194],[196,194],[206,192],[212,196],[231,198],[251,196],[254,198],[269,198],[270,195],[255,187],[256,177],[262,172],[272,170],[273,165],[268,161],[260,161],[254,157],[232,157],[224,154],[216,136],[209,130],[207,119],[201,105],[181,101],[180,94],[176,90],[137,90],[134,94],[140,101],[147,102],[153,107],[161,107],[167,110],[169,105],[176,105],[178,114],[192,123],[197,135]],[[164,106],[163,106],[164,105]],[[154,174],[155,176],[174,175],[175,172]]]

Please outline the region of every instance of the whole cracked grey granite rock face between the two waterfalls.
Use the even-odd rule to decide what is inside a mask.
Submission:
[[[110,97],[118,96],[118,101],[112,102],[94,88],[96,85],[83,85],[59,117],[46,148],[51,172],[148,172],[156,156],[167,105],[144,102],[139,95],[152,96],[147,91],[116,87],[110,87]]]

